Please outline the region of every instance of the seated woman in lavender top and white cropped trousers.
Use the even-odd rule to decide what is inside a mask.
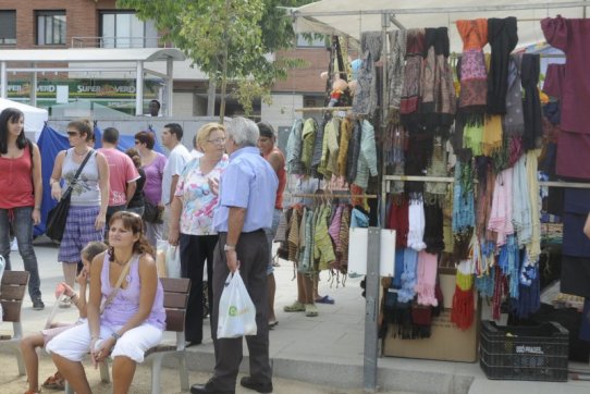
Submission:
[[[160,343],[165,328],[163,290],[142,218],[116,212],[109,226],[109,250],[95,257],[90,268],[88,321],[47,344],[58,370],[78,394],[91,393],[82,366],[88,352],[95,366],[112,357],[113,393],[127,393],[137,362]]]

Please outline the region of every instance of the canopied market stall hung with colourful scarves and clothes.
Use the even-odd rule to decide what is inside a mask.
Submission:
[[[590,119],[580,107],[590,100],[590,74],[576,67],[590,61],[581,49],[590,40],[590,23],[583,20],[587,3],[437,4],[425,1],[415,9],[414,2],[400,1],[391,9],[385,1],[319,1],[293,12],[299,30],[357,42],[360,65],[351,116],[329,109],[314,135],[316,140],[320,135],[322,140],[342,141],[349,134],[342,124],[352,119],[359,125],[359,139],[367,130],[374,136],[369,139],[377,140],[381,180],[377,186],[365,178],[359,185],[356,176],[339,173],[337,168],[320,174],[327,188],[344,176],[351,190],[360,186],[359,193],[382,196],[381,225],[397,233],[395,274],[383,285],[381,308],[385,329],[395,341],[433,337],[434,317],[444,313],[444,308],[459,334],[477,331],[477,295],[492,304],[490,316],[483,319],[499,320],[503,308],[518,319],[538,312],[542,220],[565,222],[562,287],[588,296],[581,285],[588,281],[580,278],[590,272],[589,242],[578,235],[580,221],[583,224],[590,211],[580,202],[590,200],[590,176],[587,165],[579,165],[590,153]],[[538,53],[534,45],[542,40],[561,52]],[[334,58],[337,66],[331,63],[329,73],[348,74],[346,61]],[[558,62],[566,58],[567,63],[550,64],[541,72],[541,58]],[[545,91],[539,89],[541,75],[549,79]],[[576,83],[564,75],[576,75]],[[325,151],[342,146],[332,144]],[[539,177],[540,172],[545,177]],[[539,190],[548,189],[565,189],[561,216],[542,207],[548,196]],[[379,299],[379,259],[377,269],[371,260],[369,254],[367,319],[374,316],[369,311]],[[438,275],[443,262],[454,276],[444,300]],[[369,321],[366,325],[365,359],[370,364],[366,364],[366,389],[374,389],[377,362],[370,360],[377,356],[371,353],[376,325],[374,330]],[[477,335],[470,337],[470,355],[477,354]],[[385,345],[385,352],[392,348],[394,355],[437,358],[432,352],[395,354],[400,347],[401,343]],[[463,360],[474,361],[469,357]],[[448,353],[443,358],[450,359]],[[481,358],[482,367],[487,361]],[[516,379],[563,380],[563,368],[548,371],[545,379],[539,379],[520,369]]]

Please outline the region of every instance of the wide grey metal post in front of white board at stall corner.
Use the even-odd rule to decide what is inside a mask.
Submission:
[[[377,391],[377,352],[379,316],[379,254],[381,243],[381,230],[369,227],[367,235],[367,278],[365,288],[365,358],[362,385],[366,392]]]

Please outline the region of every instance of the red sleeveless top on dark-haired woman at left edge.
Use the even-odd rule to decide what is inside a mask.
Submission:
[[[29,149],[27,144],[15,159],[0,157],[0,209],[35,206]]]

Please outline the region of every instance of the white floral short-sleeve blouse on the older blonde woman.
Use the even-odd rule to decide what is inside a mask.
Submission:
[[[229,163],[228,155],[223,155],[216,167],[204,174],[200,170],[200,159],[190,160],[179,176],[176,184],[177,197],[182,197],[181,233],[188,235],[212,235],[213,211],[218,196],[209,188],[210,177],[221,178]]]

